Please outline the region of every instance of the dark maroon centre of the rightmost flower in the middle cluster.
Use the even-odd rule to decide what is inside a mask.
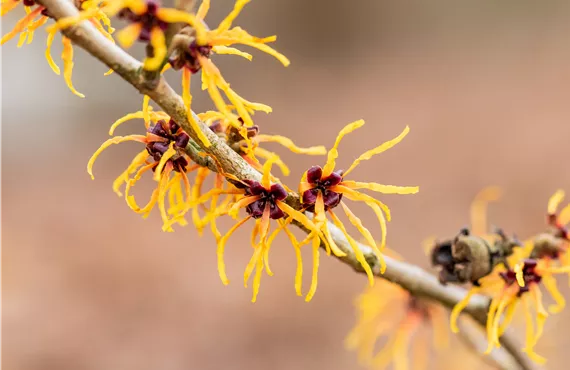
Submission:
[[[342,171],[333,172],[324,178],[322,176],[323,169],[320,166],[313,166],[307,171],[307,182],[312,188],[303,193],[303,206],[308,211],[314,211],[319,192],[323,195],[325,210],[338,206],[342,200],[342,194],[330,190],[342,182]]]

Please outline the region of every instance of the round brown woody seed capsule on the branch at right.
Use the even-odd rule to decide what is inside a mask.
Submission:
[[[439,281],[478,285],[479,279],[489,275],[499,263],[507,265],[507,257],[521,243],[497,230],[494,242],[471,235],[462,229],[454,240],[437,243],[432,250],[432,265],[439,268]]]

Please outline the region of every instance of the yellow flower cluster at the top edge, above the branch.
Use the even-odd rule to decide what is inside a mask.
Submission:
[[[117,40],[124,48],[131,47],[136,41],[147,44],[146,70],[164,72],[170,67],[182,70],[182,98],[188,111],[188,120],[200,141],[208,147],[210,141],[200,131],[191,112],[191,75],[201,71],[202,87],[208,90],[216,109],[232,125],[242,129],[242,126],[253,126],[251,115],[255,111],[269,113],[271,108],[250,102],[237,94],[212,62],[211,56],[233,54],[251,60],[250,54],[232,47],[242,44],[274,56],[285,66],[289,65],[284,55],[267,45],[276,40],[275,36],[258,38],[240,27],[232,27],[235,18],[249,1],[237,0],[234,9],[213,29],[204,21],[210,8],[209,0],[204,0],[195,13],[163,7],[157,0],[108,0],[99,3],[96,8],[82,10],[78,16],[60,19],[51,30],[65,29],[85,19],[92,19],[94,14],[99,13],[127,21],[129,25],[117,32]],[[180,24],[184,27],[178,30]],[[169,30],[175,34],[167,37]],[[220,91],[225,94],[227,101]],[[241,132],[247,138],[245,129]]]

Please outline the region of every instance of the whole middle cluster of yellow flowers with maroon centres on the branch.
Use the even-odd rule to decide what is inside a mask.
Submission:
[[[109,130],[109,134],[113,135],[115,130],[123,123],[133,119],[143,119],[146,134],[114,136],[107,140],[89,161],[89,174],[92,175],[92,167],[96,158],[110,145],[125,141],[143,143],[145,145],[144,150],[135,156],[127,169],[114,181],[114,191],[122,196],[122,187],[124,186],[124,196],[127,204],[132,210],[142,214],[143,217],[147,217],[154,206],[158,205],[164,231],[173,231],[175,224],[180,226],[187,225],[186,216],[188,214],[191,214],[192,224],[200,233],[210,226],[218,244],[218,269],[224,284],[229,282],[223,259],[224,248],[228,238],[249,219],[253,219],[252,246],[254,247],[254,254],[244,274],[244,282],[247,284],[250,275],[255,269],[253,300],[256,299],[258,294],[262,272],[265,270],[269,275],[272,274],[269,267],[269,248],[277,234],[282,231],[291,241],[297,256],[298,266],[295,291],[298,295],[303,294],[301,284],[303,272],[301,247],[305,244],[312,245],[313,273],[311,287],[306,294],[306,300],[312,299],[317,289],[321,243],[329,252],[333,251],[337,255],[344,254],[331,237],[329,226],[326,222],[327,215],[348,238],[358,260],[372,277],[373,273],[362,251],[360,251],[354,239],[348,234],[333,209],[339,205],[343,208],[349,221],[360,230],[367,241],[372,241],[370,245],[374,248],[378,257],[382,259],[381,249],[377,247],[371,233],[362,225],[360,219],[341,198],[346,196],[347,199],[364,201],[375,211],[381,220],[382,226],[382,242],[380,245],[384,245],[386,238],[385,219],[390,220],[389,209],[373,197],[358,192],[358,189],[366,188],[384,193],[410,194],[417,192],[417,187],[397,187],[349,181],[345,180],[344,176],[351,172],[361,161],[369,159],[372,155],[378,154],[401,141],[408,132],[407,128],[396,139],[360,156],[345,173],[339,171],[331,172],[331,175],[327,178],[327,176],[323,175],[323,171],[334,169],[334,162],[337,156],[335,153],[340,138],[349,130],[362,126],[364,122],[358,121],[345,127],[341,131],[335,146],[328,152],[329,159],[324,169],[315,166],[303,176],[300,184],[300,188],[303,191],[300,192],[301,209],[299,210],[285,201],[289,196],[290,190],[271,174],[271,168],[274,164],[278,165],[285,175],[289,174],[289,168],[276,153],[268,151],[260,145],[266,142],[279,143],[294,153],[309,155],[325,154],[324,147],[301,148],[286,137],[260,134],[257,126],[247,128],[247,139],[244,139],[239,130],[231,125],[222,113],[217,111],[198,114],[198,118],[208,125],[210,130],[221,141],[233,148],[254,168],[259,169],[262,172],[261,179],[259,181],[240,180],[220,171],[213,175],[213,184],[208,191],[203,192],[204,184],[213,172],[209,168],[204,167],[203,164],[196,163],[190,158],[189,153],[199,150],[199,146],[166,113],[155,111],[150,106],[148,97],[145,97],[141,111],[121,117],[113,123]],[[157,182],[157,187],[153,191],[150,200],[141,207],[135,201],[134,196],[131,195],[131,189],[141,179],[142,175],[149,170],[154,171],[153,179]],[[189,177],[191,172],[195,173],[193,180]],[[230,181],[226,181],[226,177]],[[334,178],[335,181],[330,181],[330,178]],[[331,193],[337,194],[336,202],[330,201]],[[221,199],[221,197],[225,198]],[[217,219],[225,215],[235,218],[240,209],[244,209],[247,215],[238,221],[225,235],[222,235],[217,226]],[[304,214],[305,211],[313,213],[312,220]],[[386,212],[386,217],[384,217],[383,212]],[[270,233],[271,220],[277,223],[277,227],[272,233]],[[308,230],[309,235],[304,240],[297,240],[288,229],[288,225],[291,222],[303,225]],[[371,283],[373,281],[371,279]]]

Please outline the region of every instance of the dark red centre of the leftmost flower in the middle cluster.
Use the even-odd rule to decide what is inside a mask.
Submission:
[[[190,141],[190,136],[182,130],[182,128],[173,120],[168,123],[164,120],[160,120],[156,125],[150,126],[148,132],[164,138],[164,141],[153,141],[147,144],[146,150],[150,154],[156,163],[160,162],[160,159],[164,153],[168,150],[170,143],[174,142],[174,148],[179,150],[184,150],[188,141]],[[185,172],[186,166],[188,166],[188,161],[183,156],[176,154],[169,159],[174,166],[174,171]],[[153,169],[154,171],[154,169]]]

